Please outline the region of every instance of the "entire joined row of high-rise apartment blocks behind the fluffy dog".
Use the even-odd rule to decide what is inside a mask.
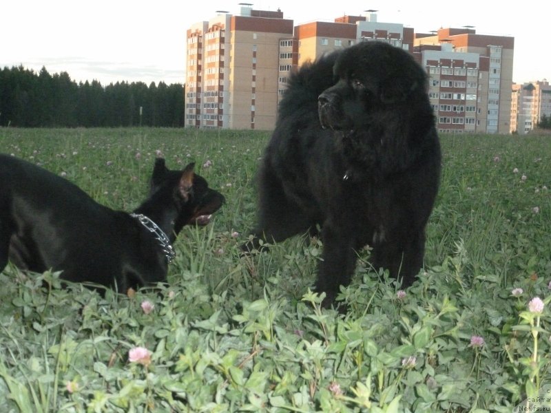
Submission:
[[[377,21],[373,10],[293,28],[280,10],[241,6],[240,16],[221,12],[188,30],[186,125],[272,129],[278,100],[298,66],[358,41],[385,41],[426,67],[439,131],[510,131],[512,37],[472,28],[416,34],[402,24]],[[212,34],[217,31],[220,35]]]

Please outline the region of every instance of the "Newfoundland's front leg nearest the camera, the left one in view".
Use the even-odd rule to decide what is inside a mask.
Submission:
[[[320,262],[316,291],[326,293],[324,307],[334,303],[340,286],[350,284],[357,260],[354,239],[348,231],[325,223],[322,229],[323,261]]]

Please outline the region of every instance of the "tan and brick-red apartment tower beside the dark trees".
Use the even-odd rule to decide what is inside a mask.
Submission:
[[[239,16],[220,11],[187,30],[188,127],[271,129],[275,125],[280,40],[292,39],[293,21],[283,19],[280,10],[240,6]]]

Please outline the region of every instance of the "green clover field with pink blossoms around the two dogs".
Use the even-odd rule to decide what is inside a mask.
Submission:
[[[1,412],[480,413],[551,405],[549,136],[441,136],[424,272],[402,291],[360,251],[353,284],[342,290],[346,316],[321,310],[309,293],[320,240],[294,237],[239,256],[268,137],[0,129],[1,152],[65,176],[114,209],[138,206],[156,156],[171,169],[196,162],[227,199],[209,226],[180,234],[169,286],[158,292],[102,298],[79,285],[59,288],[56,274],[6,268]],[[202,166],[207,160],[212,165]],[[136,357],[134,348],[149,353]]]

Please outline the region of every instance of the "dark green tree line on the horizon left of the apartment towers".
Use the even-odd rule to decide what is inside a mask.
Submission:
[[[140,113],[142,108],[142,114]],[[0,71],[0,126],[183,127],[184,87],[164,82],[76,83],[67,72]]]

